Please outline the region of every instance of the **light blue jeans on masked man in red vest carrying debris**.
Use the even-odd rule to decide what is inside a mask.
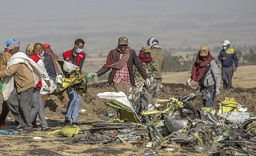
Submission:
[[[77,122],[79,116],[81,96],[74,89],[71,89],[71,91],[68,93],[68,98],[69,101],[66,110],[65,120],[70,120],[72,110],[74,108],[72,122]]]

